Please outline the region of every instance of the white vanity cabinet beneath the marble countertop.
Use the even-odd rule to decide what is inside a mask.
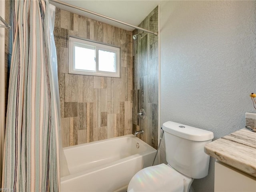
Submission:
[[[256,178],[216,161],[214,192],[256,192]]]

